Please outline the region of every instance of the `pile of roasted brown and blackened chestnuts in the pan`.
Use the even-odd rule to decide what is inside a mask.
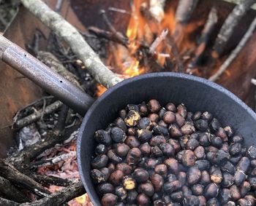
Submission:
[[[118,116],[94,135],[91,178],[103,206],[256,205],[256,146],[210,112],[152,99]]]

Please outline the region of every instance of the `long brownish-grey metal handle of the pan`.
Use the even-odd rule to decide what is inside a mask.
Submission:
[[[2,35],[0,59],[81,115],[94,103],[85,92]]]

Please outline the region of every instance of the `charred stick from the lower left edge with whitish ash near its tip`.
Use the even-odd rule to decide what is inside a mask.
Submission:
[[[23,187],[23,189],[28,189],[33,194],[37,194],[39,197],[46,197],[50,194],[50,191],[27,175],[20,173],[15,167],[4,161],[4,159],[0,159],[0,175],[8,181]]]

